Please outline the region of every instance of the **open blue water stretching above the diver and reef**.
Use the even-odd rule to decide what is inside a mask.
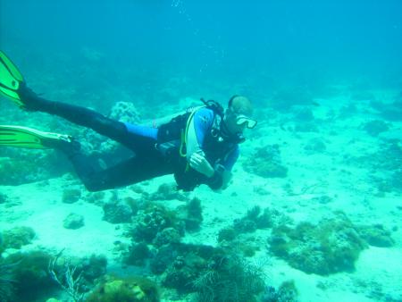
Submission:
[[[1,0],[0,30],[37,86],[46,72],[51,89],[109,86],[151,103],[244,93],[264,105],[283,87],[402,83],[400,0]]]

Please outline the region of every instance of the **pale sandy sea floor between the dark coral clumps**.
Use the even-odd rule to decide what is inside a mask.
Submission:
[[[255,232],[255,242],[260,247],[249,260],[263,265],[267,282],[278,287],[282,281],[293,280],[299,301],[401,301],[402,300],[402,197],[401,191],[381,191],[374,180],[382,171],[373,162],[381,162],[381,144],[389,139],[402,137],[402,122],[387,122],[389,130],[372,136],[364,130],[364,124],[379,120],[376,113],[364,101],[357,103],[356,113],[342,116],[341,105],[333,99],[320,100],[320,106],[312,109],[316,130],[297,130],[306,121],[296,121],[293,113],[273,115],[260,122],[255,132],[247,133],[249,140],[241,146],[241,157],[236,164],[230,187],[213,192],[200,187],[190,194],[198,197],[203,208],[204,221],[200,231],[187,233],[183,241],[216,246],[217,235],[230,226],[234,219],[244,216],[253,206],[276,209],[297,222],[319,222],[336,211],[343,211],[351,222],[358,224],[381,223],[392,230],[395,244],[392,247],[368,247],[356,261],[354,272],[320,276],[292,268],[284,260],[273,256],[267,248],[269,230]],[[364,109],[369,108],[369,109]],[[266,109],[267,116],[272,116]],[[260,117],[264,116],[264,110]],[[280,127],[281,125],[281,127]],[[391,137],[391,138],[389,138]],[[307,142],[321,140],[325,148],[312,151]],[[264,178],[246,172],[244,164],[255,149],[277,144],[281,150],[281,162],[288,168],[286,178]],[[171,176],[139,184],[147,192],[155,192],[159,185],[173,181]],[[77,188],[82,198],[73,204],[62,202],[63,189]],[[119,197],[138,197],[131,187],[105,192],[106,198],[117,191]],[[21,184],[0,185],[0,192],[8,202],[0,204],[0,229],[13,226],[29,226],[36,238],[25,250],[45,248],[56,254],[83,256],[102,254],[108,259],[109,270],[114,273],[136,272],[138,268],[121,265],[114,242],[127,241],[124,224],[103,220],[103,209],[85,201],[88,194],[72,173],[50,180]],[[314,197],[330,197],[320,203]],[[180,200],[161,201],[174,209],[183,204]],[[78,230],[63,227],[64,218],[81,214],[85,226]],[[13,253],[6,250],[5,255]],[[164,301],[177,300],[165,293]],[[186,298],[181,297],[186,300]]]

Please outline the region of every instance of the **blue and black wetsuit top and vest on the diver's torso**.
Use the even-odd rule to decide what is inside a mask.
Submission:
[[[188,120],[190,119],[190,120]],[[220,189],[223,183],[223,172],[230,172],[239,158],[239,145],[228,142],[216,135],[221,116],[208,107],[196,108],[196,112],[187,112],[176,116],[170,122],[158,128],[144,127],[126,123],[130,132],[155,138],[157,145],[163,150],[166,159],[174,167],[175,180],[179,189],[192,190],[205,183],[212,189]],[[187,131],[186,131],[187,129]],[[181,135],[186,132],[186,156],[180,155]],[[205,155],[214,167],[211,178],[190,169],[188,161],[191,155]]]

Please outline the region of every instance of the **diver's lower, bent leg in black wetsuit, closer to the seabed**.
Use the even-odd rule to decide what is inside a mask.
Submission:
[[[88,167],[85,156],[71,156],[70,160],[85,187],[91,192],[121,188],[172,173],[172,166],[167,164],[162,156],[135,156],[100,171]]]

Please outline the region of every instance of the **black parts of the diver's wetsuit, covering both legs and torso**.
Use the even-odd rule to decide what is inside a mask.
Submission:
[[[176,132],[180,133],[180,129],[186,127],[188,114],[180,115],[174,121],[162,125],[157,137],[152,137],[138,134],[130,130],[127,124],[107,118],[85,107],[48,101],[36,95],[29,96],[29,104],[27,106],[28,110],[63,117],[70,122],[95,130],[105,137],[112,138],[135,153],[128,160],[106,169],[100,169],[90,164],[88,156],[83,155],[80,152],[80,148],[63,148],[62,151],[69,157],[75,171],[89,191],[124,187],[166,174],[175,175],[179,189],[192,190],[201,183],[207,184],[212,189],[219,189],[222,186],[221,172],[215,171],[212,178],[206,178],[205,175],[193,169],[188,169],[187,159],[179,155],[178,147],[172,147],[166,152],[161,152],[160,149],[155,147],[172,139],[169,135],[165,135],[166,131],[164,130],[171,130],[173,126]],[[178,129],[178,126],[180,129]],[[174,135],[177,136],[177,134]],[[180,136],[174,139],[180,140]],[[228,154],[234,154],[231,156],[235,157],[234,161],[233,159],[231,160],[233,163],[230,162],[228,164],[228,169],[231,169],[231,166],[239,155],[238,146],[228,143],[225,147],[218,147],[218,150],[221,151],[216,153],[214,146],[212,146],[214,145],[214,143],[211,143],[212,141],[214,139],[205,135],[205,145],[211,145],[208,148],[214,150],[211,153],[205,152],[206,155],[211,154],[209,158],[210,164],[214,166],[214,163],[221,161],[223,157],[227,158]]]

